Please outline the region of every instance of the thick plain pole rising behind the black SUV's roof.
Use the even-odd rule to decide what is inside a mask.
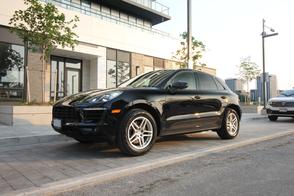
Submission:
[[[192,12],[191,0],[187,0],[187,47],[188,47],[188,68],[193,69],[192,63]]]

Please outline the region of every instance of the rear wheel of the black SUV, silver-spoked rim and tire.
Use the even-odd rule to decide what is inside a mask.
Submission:
[[[230,123],[229,121],[232,121],[232,122]],[[235,125],[235,128],[233,125]],[[239,134],[239,129],[240,129],[240,117],[238,113],[232,108],[226,109],[225,115],[222,121],[222,126],[220,129],[216,130],[217,135],[221,139],[233,139]]]

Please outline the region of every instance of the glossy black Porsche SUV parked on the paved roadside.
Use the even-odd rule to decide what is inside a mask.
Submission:
[[[130,155],[148,152],[156,138],[215,131],[239,133],[238,96],[217,77],[193,70],[160,70],[115,89],[71,95],[53,106],[52,127],[81,143],[108,141]]]

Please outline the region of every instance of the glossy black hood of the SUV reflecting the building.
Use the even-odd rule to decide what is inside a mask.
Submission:
[[[102,97],[103,95],[109,94],[111,92],[121,91],[122,89],[106,89],[106,90],[90,90],[80,93],[76,93],[67,97],[64,97],[56,102],[55,105],[84,105],[90,104],[90,100],[96,97]],[[97,104],[97,103],[96,103]]]

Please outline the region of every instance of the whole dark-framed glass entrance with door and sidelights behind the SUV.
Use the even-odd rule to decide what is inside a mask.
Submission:
[[[81,91],[82,61],[63,57],[51,57],[50,97],[56,99]]]

